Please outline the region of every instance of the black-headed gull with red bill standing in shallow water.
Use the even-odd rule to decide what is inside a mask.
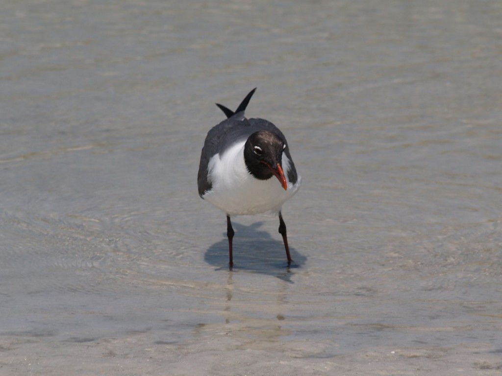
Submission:
[[[265,212],[279,214],[288,266],[292,261],[281,208],[298,191],[301,177],[279,128],[264,119],[244,117],[255,90],[235,112],[216,103],[227,119],[207,133],[197,176],[200,197],[226,214],[230,268],[234,235],[230,216]]]

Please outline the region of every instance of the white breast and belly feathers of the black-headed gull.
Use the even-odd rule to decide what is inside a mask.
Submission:
[[[298,176],[296,184],[288,180],[290,161],[283,154],[282,167],[288,182],[287,191],[275,176],[267,180],[255,178],[244,163],[244,143],[239,142],[221,157],[216,154],[209,160],[208,180],[212,188],[203,198],[230,216],[269,211],[277,213],[298,191],[301,177]]]

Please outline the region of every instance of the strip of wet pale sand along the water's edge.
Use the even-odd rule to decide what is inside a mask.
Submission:
[[[453,347],[373,347],[319,358],[322,343],[242,348],[231,338],[154,343],[140,333],[94,342],[0,338],[2,375],[500,375],[502,356],[484,343]]]

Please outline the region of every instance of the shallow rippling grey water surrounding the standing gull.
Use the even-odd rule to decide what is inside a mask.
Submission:
[[[1,335],[502,350],[502,5],[270,4],[3,7]],[[296,263],[239,217],[230,272],[198,158],[255,86]]]

